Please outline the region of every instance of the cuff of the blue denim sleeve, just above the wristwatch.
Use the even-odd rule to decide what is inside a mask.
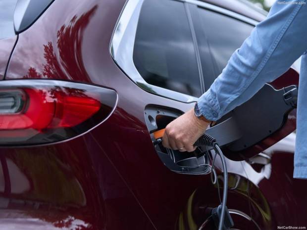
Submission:
[[[198,99],[197,104],[207,120],[216,121],[222,116],[219,105],[210,89]]]

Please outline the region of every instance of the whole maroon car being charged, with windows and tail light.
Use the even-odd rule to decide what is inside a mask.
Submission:
[[[213,151],[165,149],[153,133],[194,106],[265,12],[242,0],[3,2],[0,229],[215,230],[220,159],[215,175]],[[261,92],[286,95],[296,69]],[[231,229],[306,227],[296,109],[250,101],[210,128],[227,126]],[[246,120],[261,114],[265,126]]]

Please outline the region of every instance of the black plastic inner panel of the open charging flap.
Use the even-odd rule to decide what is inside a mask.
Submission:
[[[296,86],[275,90],[266,84],[250,100],[235,108],[230,114],[242,136],[227,148],[240,152],[280,130],[288,113],[296,107],[296,93]]]

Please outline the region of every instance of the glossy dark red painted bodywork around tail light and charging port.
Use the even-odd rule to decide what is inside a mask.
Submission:
[[[210,2],[263,19],[237,1]],[[0,229],[214,229],[209,211],[219,205],[216,185],[209,175],[176,174],[166,168],[145,124],[148,104],[183,112],[193,104],[142,90],[110,55],[124,4],[125,0],[55,0],[18,39],[0,41],[6,55],[0,59],[3,81],[56,79],[118,93],[111,116],[80,137],[0,149]],[[275,84],[298,80],[294,70],[285,76]],[[293,125],[291,115],[288,123]],[[286,134],[284,130],[259,143],[259,150]],[[293,179],[293,152],[274,151],[270,163],[258,167],[248,159],[227,157],[227,206],[234,229],[307,226],[307,185]],[[221,168],[219,161],[216,167]]]

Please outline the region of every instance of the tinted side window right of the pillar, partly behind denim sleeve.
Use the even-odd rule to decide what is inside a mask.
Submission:
[[[227,65],[233,52],[251,34],[254,26],[202,7],[191,7],[191,10],[204,73],[211,58],[204,51],[206,47],[213,58],[213,74],[204,74],[205,88],[208,89]]]

